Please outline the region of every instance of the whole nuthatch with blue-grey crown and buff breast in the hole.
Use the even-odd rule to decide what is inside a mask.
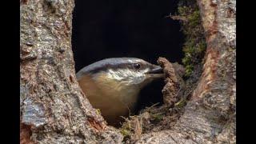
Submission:
[[[91,105],[115,124],[134,110],[140,90],[163,74],[160,66],[139,58],[106,58],[82,68],[76,77]]]

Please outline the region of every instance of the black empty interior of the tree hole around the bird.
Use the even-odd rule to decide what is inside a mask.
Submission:
[[[177,0],[75,0],[72,46],[76,71],[103,58],[134,57],[157,64],[158,57],[181,63],[184,36]],[[162,80],[140,94],[138,110],[162,104]]]

